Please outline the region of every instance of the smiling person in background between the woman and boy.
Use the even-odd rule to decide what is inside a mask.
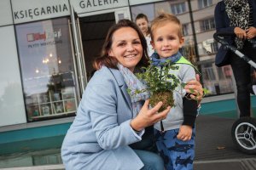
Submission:
[[[151,46],[150,28],[148,26],[148,17],[146,14],[137,14],[135,22],[136,22],[137,26],[141,29],[144,37],[147,40],[148,55],[150,58],[151,55],[154,54],[154,49]]]

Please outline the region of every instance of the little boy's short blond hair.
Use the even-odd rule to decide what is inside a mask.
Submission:
[[[180,20],[177,19],[177,17],[173,14],[161,12],[159,16],[154,18],[151,22],[151,27],[150,27],[150,36],[151,39],[154,40],[154,31],[159,28],[160,26],[166,25],[168,22],[173,22],[178,25],[179,30],[178,30],[178,37],[183,37],[183,26],[180,23]]]

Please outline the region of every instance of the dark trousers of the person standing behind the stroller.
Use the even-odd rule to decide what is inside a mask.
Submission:
[[[253,48],[250,42],[246,41],[240,51],[242,54],[246,54],[247,57],[256,62],[256,48]],[[230,64],[236,80],[237,104],[239,107],[240,116],[250,116],[250,88],[252,88],[251,66],[236,54],[232,54],[232,56],[230,56]]]

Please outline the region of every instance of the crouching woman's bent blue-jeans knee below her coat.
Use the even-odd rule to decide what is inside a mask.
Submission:
[[[164,161],[162,158],[150,151],[134,150],[137,156],[143,161],[144,167],[142,170],[163,170]]]

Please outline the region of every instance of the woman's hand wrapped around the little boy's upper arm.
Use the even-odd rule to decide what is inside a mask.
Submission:
[[[198,74],[196,74],[196,80],[187,82],[184,88],[186,92],[190,94],[191,99],[197,100],[198,103],[201,102],[201,99],[203,98],[203,88],[201,86],[200,77]]]

